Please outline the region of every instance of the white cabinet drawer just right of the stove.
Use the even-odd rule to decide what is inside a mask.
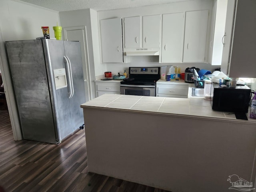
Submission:
[[[188,96],[187,85],[160,85],[157,86],[157,94]]]

